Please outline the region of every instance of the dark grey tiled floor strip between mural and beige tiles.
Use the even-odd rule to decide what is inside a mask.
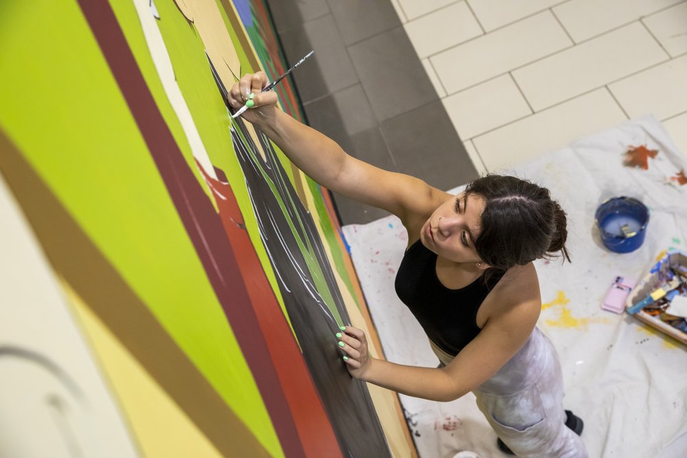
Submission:
[[[373,165],[448,190],[477,177],[389,0],[268,0],[308,124]],[[341,224],[386,216],[334,194]]]

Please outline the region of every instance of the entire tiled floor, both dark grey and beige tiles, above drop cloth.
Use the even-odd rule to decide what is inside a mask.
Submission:
[[[315,49],[310,124],[388,170],[449,189],[649,114],[687,152],[687,1],[270,4],[287,58]],[[383,216],[336,201],[344,223]]]

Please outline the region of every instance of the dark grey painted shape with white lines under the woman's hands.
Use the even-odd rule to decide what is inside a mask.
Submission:
[[[311,213],[267,137],[256,129],[265,153],[263,161],[243,120],[235,123],[232,143],[250,190],[260,239],[278,274],[284,307],[341,452],[344,457],[391,458],[367,385],[352,378],[341,360],[343,352],[335,337],[339,323],[328,305],[335,306],[346,325],[350,318]],[[241,130],[245,141],[235,129]],[[308,259],[301,246],[310,248]],[[324,279],[324,286],[317,286],[315,275]],[[326,304],[322,288],[328,290],[333,304]]]

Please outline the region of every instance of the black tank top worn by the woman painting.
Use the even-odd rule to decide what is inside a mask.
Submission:
[[[502,276],[494,275],[488,284],[480,277],[464,288],[447,288],[436,276],[436,253],[418,240],[403,255],[396,273],[396,294],[429,339],[455,356],[480,334],[477,310]]]

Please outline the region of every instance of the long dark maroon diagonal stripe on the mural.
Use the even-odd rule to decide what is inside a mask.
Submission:
[[[159,112],[109,3],[106,0],[78,2],[232,325],[284,453],[287,457],[302,457],[304,450],[289,405],[271,365],[269,350],[222,222]]]

